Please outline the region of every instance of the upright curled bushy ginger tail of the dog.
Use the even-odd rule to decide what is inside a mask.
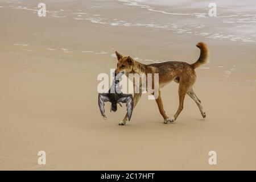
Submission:
[[[199,42],[196,44],[196,47],[200,48],[200,56],[196,63],[191,64],[191,66],[195,69],[200,67],[200,65],[207,63],[209,57],[209,49],[207,44],[203,42]]]

